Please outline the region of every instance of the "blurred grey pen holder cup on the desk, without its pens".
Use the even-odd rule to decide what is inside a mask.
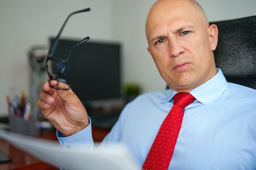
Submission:
[[[27,136],[37,136],[39,134],[36,124],[34,124],[34,122],[31,120],[24,120],[16,116],[10,116],[9,124],[11,132],[20,133]]]

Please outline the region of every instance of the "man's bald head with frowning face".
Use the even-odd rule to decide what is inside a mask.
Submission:
[[[215,26],[207,27],[186,0],[161,1],[151,9],[146,23],[148,51],[171,89],[189,92],[216,74]]]

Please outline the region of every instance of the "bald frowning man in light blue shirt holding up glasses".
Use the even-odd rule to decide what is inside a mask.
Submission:
[[[122,111],[103,143],[122,142],[141,167],[177,92],[196,100],[185,108],[174,170],[256,169],[256,90],[227,83],[216,69],[218,28],[194,0],[159,0],[146,20],[148,52],[170,89],[143,94]],[[72,90],[42,86],[38,108],[58,129],[61,146],[93,146],[91,122]],[[153,168],[157,169],[157,168]]]

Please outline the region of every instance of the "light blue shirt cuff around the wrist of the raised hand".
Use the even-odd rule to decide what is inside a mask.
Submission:
[[[61,148],[64,149],[74,149],[74,148],[81,148],[81,147],[87,147],[87,148],[93,148],[93,139],[92,139],[92,124],[91,119],[89,119],[89,125],[79,131],[78,133],[75,133],[74,135],[64,137],[64,135],[57,130],[56,134],[58,137],[58,141],[60,143]]]

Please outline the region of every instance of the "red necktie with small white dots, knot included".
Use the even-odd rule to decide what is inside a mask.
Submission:
[[[173,107],[162,123],[142,167],[143,170],[167,170],[182,124],[184,108],[195,98],[185,92],[173,97]]]

